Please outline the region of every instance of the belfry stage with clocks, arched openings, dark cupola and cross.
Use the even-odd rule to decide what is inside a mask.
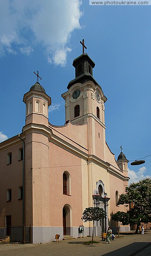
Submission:
[[[91,116],[105,127],[104,103],[107,98],[93,77],[95,63],[84,53],[84,39],[80,43],[83,45],[83,54],[73,61],[75,78],[68,83],[68,91],[62,94],[66,101],[66,122],[70,120],[76,124],[84,124]]]

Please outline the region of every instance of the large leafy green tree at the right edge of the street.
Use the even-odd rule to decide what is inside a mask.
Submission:
[[[137,183],[131,183],[129,187],[126,187],[125,194],[120,195],[117,204],[133,205],[127,213],[129,224],[137,224],[135,231],[137,234],[140,223],[151,217],[151,179],[147,178]]]

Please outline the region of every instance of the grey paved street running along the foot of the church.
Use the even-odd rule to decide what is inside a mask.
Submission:
[[[144,235],[125,233],[111,244],[83,245],[84,237],[47,244],[0,244],[0,256],[151,256],[151,230]],[[100,236],[94,240],[101,241]]]

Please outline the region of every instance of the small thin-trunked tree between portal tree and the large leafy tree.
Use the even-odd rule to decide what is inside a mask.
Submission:
[[[113,221],[118,221],[119,223],[119,231],[118,231],[118,237],[119,237],[119,233],[120,233],[120,224],[122,225],[128,225],[129,224],[129,215],[127,212],[116,212],[114,214],[111,215],[111,219]]]

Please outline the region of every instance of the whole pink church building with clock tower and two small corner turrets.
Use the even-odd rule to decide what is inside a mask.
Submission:
[[[94,61],[84,53],[74,59],[75,78],[62,94],[65,125],[48,121],[51,97],[37,82],[24,94],[26,124],[22,133],[0,143],[0,236],[10,225],[31,225],[32,243],[53,241],[56,234],[92,234],[92,222],[83,223],[86,207],[100,207],[107,218],[95,223],[95,235],[113,232],[111,214],[128,186],[128,160],[115,160],[105,141],[106,96],[93,77]],[[37,73],[38,76],[38,73]],[[121,226],[121,231],[129,231]]]

